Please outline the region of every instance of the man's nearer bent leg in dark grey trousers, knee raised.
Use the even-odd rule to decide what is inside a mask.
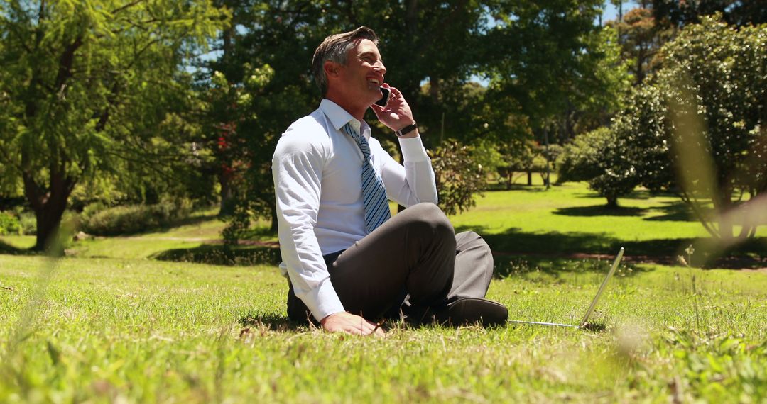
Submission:
[[[328,268],[344,308],[364,318],[382,317],[410,301],[446,303],[453,282],[456,238],[453,226],[434,204],[409,207],[378,227]]]

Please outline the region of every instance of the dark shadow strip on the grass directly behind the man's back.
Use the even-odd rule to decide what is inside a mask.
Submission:
[[[219,266],[278,265],[280,249],[268,246],[203,245],[189,249],[169,249],[152,259],[173,262],[195,262]]]

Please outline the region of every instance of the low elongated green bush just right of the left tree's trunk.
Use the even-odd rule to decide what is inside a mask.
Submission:
[[[108,208],[94,205],[83,211],[81,230],[97,236],[140,233],[186,219],[191,212],[192,203],[189,200]]]

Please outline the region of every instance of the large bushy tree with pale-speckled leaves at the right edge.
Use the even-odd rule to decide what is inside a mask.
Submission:
[[[663,48],[658,72],[680,197],[709,233],[724,240],[732,238],[734,223],[720,215],[738,207],[744,193],[754,200],[767,190],[765,38],[767,24],[736,29],[703,18]],[[713,215],[704,209],[706,197]],[[739,239],[753,236],[759,223],[741,224]]]

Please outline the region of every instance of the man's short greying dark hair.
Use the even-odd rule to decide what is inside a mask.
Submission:
[[[360,27],[354,31],[334,34],[326,37],[314,51],[311,58],[311,73],[314,74],[314,82],[320,87],[322,95],[328,93],[328,77],[325,76],[324,64],[328,60],[337,64],[346,64],[347,54],[360,39],[369,39],[378,44],[378,36],[375,31],[367,27]]]

